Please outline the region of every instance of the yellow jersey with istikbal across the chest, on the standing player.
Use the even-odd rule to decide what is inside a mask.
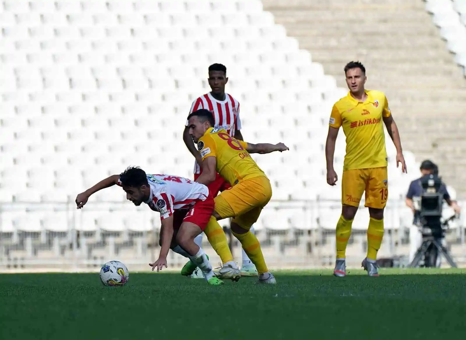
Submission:
[[[381,91],[366,90],[367,99],[359,102],[350,92],[333,105],[329,125],[343,126],[346,155],[343,170],[387,166],[382,118],[391,115],[387,97]]]

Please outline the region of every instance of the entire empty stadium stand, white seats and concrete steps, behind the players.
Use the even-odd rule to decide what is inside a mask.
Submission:
[[[74,199],[128,165],[191,178],[182,132],[192,100],[208,91],[214,62],[228,68],[227,92],[241,102],[245,139],[291,149],[255,157],[274,184],[274,202],[255,225],[266,256],[275,264],[329,264],[335,247],[327,234],[340,214],[341,189],[325,183],[324,144],[331,106],[347,92],[340,69],[353,55],[366,63],[370,84],[387,92],[402,127],[411,172],[396,168],[387,136],[390,232],[381,253],[403,253],[410,212],[400,197],[418,176],[417,161],[431,156],[435,140],[435,155],[445,159],[433,158],[445,177],[463,169],[447,149],[459,137],[464,79],[422,6],[365,4],[374,14],[359,29],[371,39],[351,50],[349,37],[359,31],[334,20],[348,12],[343,0],[312,3],[267,0],[268,12],[259,0],[2,1],[0,265],[96,265],[114,255],[139,265],[154,257],[157,214],[124,202],[119,188],[97,193],[81,211]],[[416,23],[400,9],[395,22],[380,24],[395,4]],[[376,22],[383,27],[377,32]],[[429,134],[440,126],[444,134]],[[338,173],[343,156],[340,133]],[[367,220],[362,208],[349,246],[355,261],[365,252]],[[455,242],[464,244],[456,231]]]

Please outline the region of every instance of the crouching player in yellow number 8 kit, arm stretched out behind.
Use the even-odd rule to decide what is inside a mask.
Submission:
[[[259,241],[249,231],[272,197],[272,187],[250,153],[266,154],[289,149],[283,143],[252,144],[239,141],[228,135],[224,129],[213,129],[213,126],[212,113],[206,109],[197,110],[188,116],[189,134],[198,144],[202,158],[202,174],[196,181],[208,185],[215,180],[218,172],[232,186],[215,197],[214,212],[204,232],[209,238],[213,231],[220,228],[217,220],[233,218],[232,233],[256,266],[259,282],[274,284],[275,278],[267,269]],[[212,242],[212,247],[216,248],[215,241]],[[217,253],[222,257],[218,251]],[[224,264],[232,260],[233,258],[222,258]],[[220,278],[221,273],[220,269]]]

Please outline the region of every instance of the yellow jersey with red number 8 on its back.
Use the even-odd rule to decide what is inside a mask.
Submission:
[[[266,176],[246,148],[246,142],[228,135],[225,129],[209,128],[198,141],[202,160],[217,157],[216,170],[231,186],[245,179]]]

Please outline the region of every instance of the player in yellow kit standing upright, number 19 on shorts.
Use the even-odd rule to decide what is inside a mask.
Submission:
[[[342,178],[342,215],[336,224],[336,264],[334,275],[346,275],[345,251],[351,235],[351,224],[365,191],[365,206],[369,207],[367,255],[362,266],[369,276],[378,276],[377,252],[384,236],[384,208],[388,198],[387,151],[384,124],[397,149],[397,167],[406,172],[400,135],[384,93],[365,90],[366,69],[359,61],[345,68],[348,95],[335,103],[330,115],[329,134],[325,146],[327,183],[335,185],[333,168],[336,136],[343,126],[346,155]]]

